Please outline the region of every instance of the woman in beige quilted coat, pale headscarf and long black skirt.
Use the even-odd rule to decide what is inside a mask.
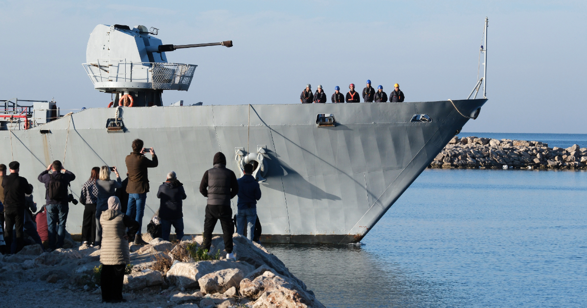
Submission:
[[[102,248],[100,252],[100,287],[103,303],[126,302],[122,298],[124,270],[130,264],[129,238],[139,231],[139,223],[120,212],[120,199],[110,197],[100,215]],[[128,228],[128,232],[126,231]]]

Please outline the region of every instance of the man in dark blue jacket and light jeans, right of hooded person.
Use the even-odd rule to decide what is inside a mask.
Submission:
[[[244,174],[238,182],[237,233],[244,235],[247,226],[247,238],[252,241],[257,221],[257,201],[261,199],[259,182],[252,176],[253,165],[244,165]]]

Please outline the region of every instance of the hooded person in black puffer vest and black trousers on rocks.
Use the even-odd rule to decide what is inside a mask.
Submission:
[[[309,86],[309,84],[308,84]],[[311,93],[311,92],[310,92]],[[200,193],[208,198],[206,214],[204,218],[204,242],[203,249],[210,251],[212,245],[212,231],[216,222],[220,219],[222,233],[224,235],[224,249],[227,259],[234,260],[232,254],[232,209],[230,199],[238,194],[237,176],[226,168],[226,157],[222,152],[214,154],[214,168],[204,172],[200,182]]]

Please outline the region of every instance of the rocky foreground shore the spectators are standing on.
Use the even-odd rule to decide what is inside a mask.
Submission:
[[[264,246],[234,234],[236,260],[224,258],[224,241],[212,239],[210,254],[200,245],[201,236],[184,236],[181,242],[153,239],[149,245],[130,244],[131,266],[124,276],[124,298],[119,307],[324,307],[306,285],[296,278]],[[25,246],[12,256],[0,255],[0,287],[14,292],[27,285],[52,289],[45,303],[100,302],[100,250],[57,249]],[[197,260],[205,259],[205,260]],[[49,288],[39,286],[45,283]],[[61,290],[57,292],[57,290]],[[33,290],[30,290],[33,291]],[[55,299],[52,298],[55,296]],[[20,300],[20,299],[19,299]],[[29,303],[20,302],[24,306]],[[80,303],[81,304],[81,303]],[[154,305],[154,306],[153,306]],[[17,305],[18,306],[18,305]]]

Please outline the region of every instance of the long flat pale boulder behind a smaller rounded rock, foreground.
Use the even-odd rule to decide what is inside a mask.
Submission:
[[[198,287],[200,286],[198,279],[201,277],[217,272],[218,270],[231,268],[242,270],[244,275],[247,275],[255,269],[254,266],[240,261],[212,260],[195,263],[177,262],[168,270],[167,281],[170,285],[178,287]]]

